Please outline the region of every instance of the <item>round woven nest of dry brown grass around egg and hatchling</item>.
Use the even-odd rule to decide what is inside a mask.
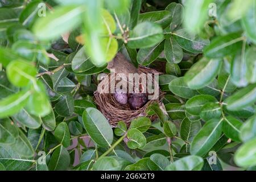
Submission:
[[[150,81],[152,82],[152,84],[154,84],[154,78],[156,74],[162,75],[162,73],[156,71],[155,69],[147,67],[139,67],[138,74],[141,73],[144,73],[146,75],[147,73],[151,73],[152,79]],[[112,78],[109,74],[101,82],[105,82],[104,84],[109,84],[110,86],[110,83],[112,81],[111,79]],[[142,106],[141,108],[137,108],[136,110],[131,109],[128,103],[125,105],[119,104],[119,102],[115,100],[113,93],[99,93],[97,90],[96,92],[94,92],[94,101],[96,102],[98,109],[101,111],[102,114],[105,115],[112,127],[115,127],[119,121],[123,121],[126,123],[127,126],[129,126],[130,122],[137,117],[144,116],[150,118],[151,121],[154,121],[155,116],[147,114],[147,106],[149,106],[153,102],[157,102],[158,104],[160,104],[162,96],[164,94],[160,90],[158,83],[156,89],[158,89],[158,96],[156,96],[156,98],[152,100],[148,100],[146,104],[144,104],[144,106]],[[146,94],[148,94],[147,91]]]

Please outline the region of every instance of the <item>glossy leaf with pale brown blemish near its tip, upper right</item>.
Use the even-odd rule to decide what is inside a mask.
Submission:
[[[202,53],[209,40],[201,39],[195,35],[188,34],[187,30],[180,29],[172,33],[176,42],[188,52]]]

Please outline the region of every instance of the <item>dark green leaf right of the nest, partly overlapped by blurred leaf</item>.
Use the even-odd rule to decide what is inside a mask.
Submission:
[[[172,93],[182,98],[191,98],[197,95],[196,90],[191,90],[187,84],[185,84],[184,77],[172,80],[169,84],[169,89]]]

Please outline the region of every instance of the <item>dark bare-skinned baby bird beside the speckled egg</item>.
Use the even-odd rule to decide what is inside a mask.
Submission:
[[[144,93],[133,93],[130,94],[128,100],[131,109],[136,110],[137,108],[141,108],[147,102],[147,96]]]

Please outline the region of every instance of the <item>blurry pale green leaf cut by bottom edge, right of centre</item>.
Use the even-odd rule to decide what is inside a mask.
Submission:
[[[200,171],[204,166],[204,160],[199,156],[189,155],[176,160],[166,167],[166,171]]]

